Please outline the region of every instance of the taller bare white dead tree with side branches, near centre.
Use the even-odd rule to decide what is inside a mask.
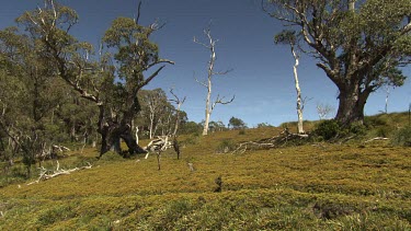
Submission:
[[[208,134],[209,117],[210,117],[214,108],[216,107],[216,105],[217,104],[229,104],[236,97],[236,95],[233,95],[231,97],[231,100],[225,101],[225,97],[224,96],[220,97],[220,95],[218,94],[217,99],[214,102],[212,102],[213,77],[225,76],[232,70],[230,69],[230,70],[226,70],[226,71],[220,71],[220,72],[214,71],[214,66],[215,66],[215,62],[216,62],[216,49],[215,49],[215,47],[216,47],[216,43],[218,42],[218,39],[214,39],[212,37],[210,26],[208,26],[207,28],[204,30],[204,34],[207,37],[208,43],[202,43],[196,37],[194,37],[194,43],[204,46],[205,48],[209,49],[209,53],[210,53],[210,58],[209,58],[209,61],[208,61],[207,80],[206,81],[198,81],[197,79],[195,79],[199,84],[202,84],[203,86],[205,86],[207,89],[206,108],[205,108],[205,123],[204,123],[203,136]]]

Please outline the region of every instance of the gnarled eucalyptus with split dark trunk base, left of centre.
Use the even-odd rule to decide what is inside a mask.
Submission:
[[[173,63],[161,59],[158,46],[150,41],[161,25],[144,26],[138,19],[139,14],[136,19],[113,21],[103,36],[99,61],[90,60],[91,44],[70,34],[79,20],[75,10],[47,0],[44,8],[27,11],[18,19],[31,32],[32,39],[43,46],[43,56],[53,62],[49,68],[81,97],[99,107],[100,157],[111,149],[122,153],[121,139],[129,154],[145,152],[132,135],[133,117],[140,111],[137,93],[165,63]]]

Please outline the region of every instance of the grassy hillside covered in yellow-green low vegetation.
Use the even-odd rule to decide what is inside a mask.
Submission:
[[[408,122],[406,114],[367,119],[364,140]],[[0,230],[411,230],[410,148],[354,140],[227,151],[281,130],[181,137],[181,160],[163,153],[161,171],[155,154],[72,152],[60,168],[93,166],[0,188]]]

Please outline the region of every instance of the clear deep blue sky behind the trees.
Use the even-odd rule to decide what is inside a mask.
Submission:
[[[81,41],[98,44],[104,31],[117,16],[133,18],[137,0],[64,0],[75,9],[80,21],[72,33]],[[25,10],[43,5],[42,0],[4,1],[0,9],[0,28],[15,25],[14,19]],[[214,80],[217,94],[236,100],[229,105],[217,105],[212,120],[227,125],[231,116],[243,119],[249,127],[259,123],[279,125],[297,120],[296,92],[293,79],[294,59],[289,47],[274,45],[273,36],[282,25],[262,10],[260,0],[144,0],[140,22],[150,24],[156,19],[167,25],[153,36],[162,58],[172,59],[147,89],[162,88],[187,100],[182,106],[190,120],[204,119],[206,89],[194,80],[206,78],[208,50],[193,43],[193,37],[205,39],[203,30],[212,21],[216,46],[216,70],[233,69]],[[336,111],[336,88],[316,67],[315,60],[302,56],[298,68],[302,95],[310,100],[305,107],[305,119],[318,119],[316,105],[330,104]],[[410,76],[408,67],[406,73]],[[388,111],[403,112],[411,103],[410,80],[390,91]],[[372,94],[366,115],[383,111],[385,92]]]

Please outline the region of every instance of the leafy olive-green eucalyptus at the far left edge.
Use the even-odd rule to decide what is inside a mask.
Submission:
[[[15,27],[0,31],[0,129],[10,139],[12,155],[23,157],[28,175],[35,157],[45,154],[56,141],[49,114],[67,92],[33,36]]]

